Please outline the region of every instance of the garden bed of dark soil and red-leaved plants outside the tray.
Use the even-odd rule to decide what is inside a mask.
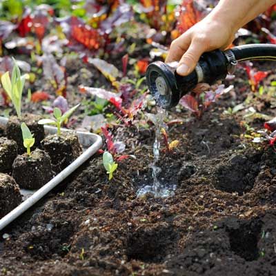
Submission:
[[[234,88],[222,89],[201,118],[197,105],[169,110],[155,165],[174,195],[137,197],[153,182],[158,112],[146,66],[163,61],[172,39],[217,1],[182,8],[178,1],[27,2],[30,9],[0,3],[0,75],[12,71],[14,57],[29,73],[22,113],[52,118],[55,107],[64,113],[81,103],[63,123],[106,143],[0,231],[0,275],[276,275],[276,138],[253,143],[276,117],[275,63],[239,64],[224,81]],[[234,43],[275,43],[272,15],[251,22]],[[0,115],[16,115],[0,95]],[[118,164],[113,178],[103,151]]]

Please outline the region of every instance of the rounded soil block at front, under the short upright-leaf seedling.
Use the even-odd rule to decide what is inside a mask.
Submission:
[[[18,155],[12,164],[12,177],[20,188],[36,190],[53,177],[52,164],[47,152],[38,148],[30,153]]]

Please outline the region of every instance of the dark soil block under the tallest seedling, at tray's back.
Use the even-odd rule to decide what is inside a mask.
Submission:
[[[6,135],[8,139],[12,139],[17,142],[19,153],[23,153],[25,151],[21,131],[21,123],[23,122],[25,122],[25,124],[30,129],[30,132],[32,132],[32,135],[35,139],[34,146],[40,146],[40,142],[44,138],[44,128],[42,125],[37,124],[39,119],[41,119],[40,116],[32,114],[22,115],[21,120],[19,120],[16,116],[9,118],[8,124],[6,126]]]

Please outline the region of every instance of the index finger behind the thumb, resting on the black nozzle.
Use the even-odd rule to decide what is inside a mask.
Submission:
[[[190,34],[185,32],[181,37],[172,41],[170,45],[170,50],[168,51],[168,56],[166,57],[166,63],[172,61],[179,61],[184,55],[184,52],[188,49],[190,45]]]

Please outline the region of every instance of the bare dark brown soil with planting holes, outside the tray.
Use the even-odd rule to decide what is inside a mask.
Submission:
[[[246,87],[201,120],[170,112],[187,121],[170,125],[180,144],[158,164],[174,196],[136,197],[152,182],[155,132],[126,128],[136,159],[121,161],[114,179],[95,155],[1,231],[10,237],[0,240],[0,275],[276,275],[276,154],[244,137],[243,113],[223,114]],[[252,106],[275,115],[264,102]]]

